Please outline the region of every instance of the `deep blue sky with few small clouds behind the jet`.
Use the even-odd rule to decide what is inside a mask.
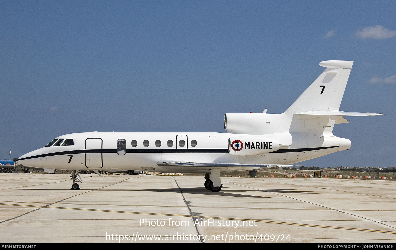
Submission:
[[[91,131],[225,132],[282,113],[354,62],[335,125],[350,151],[305,166],[395,166],[394,1],[2,1],[0,158]],[[234,102],[238,98],[238,104]]]

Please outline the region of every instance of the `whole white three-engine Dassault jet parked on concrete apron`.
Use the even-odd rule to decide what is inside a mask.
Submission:
[[[53,139],[22,155],[30,167],[71,170],[148,170],[206,173],[206,189],[220,191],[220,172],[289,165],[350,148],[350,140],[333,135],[343,116],[380,114],[339,110],[353,61],[323,61],[324,72],[282,114],[227,113],[227,133],[76,133]]]

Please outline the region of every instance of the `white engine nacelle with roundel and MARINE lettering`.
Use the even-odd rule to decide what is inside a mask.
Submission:
[[[233,155],[261,155],[279,149],[278,140],[260,136],[228,138],[228,152]]]

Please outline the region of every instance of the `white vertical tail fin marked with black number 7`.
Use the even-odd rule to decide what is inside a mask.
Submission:
[[[291,114],[339,110],[353,61],[323,61],[324,72],[286,110]]]

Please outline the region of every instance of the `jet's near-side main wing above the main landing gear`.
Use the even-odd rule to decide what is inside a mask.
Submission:
[[[208,167],[208,169],[220,169],[225,167],[248,167],[255,169],[265,169],[271,167],[297,167],[294,165],[281,165],[281,164],[249,164],[249,163],[198,163],[198,162],[187,162],[187,161],[158,161],[158,166],[162,167]],[[255,170],[252,169],[252,170]]]

